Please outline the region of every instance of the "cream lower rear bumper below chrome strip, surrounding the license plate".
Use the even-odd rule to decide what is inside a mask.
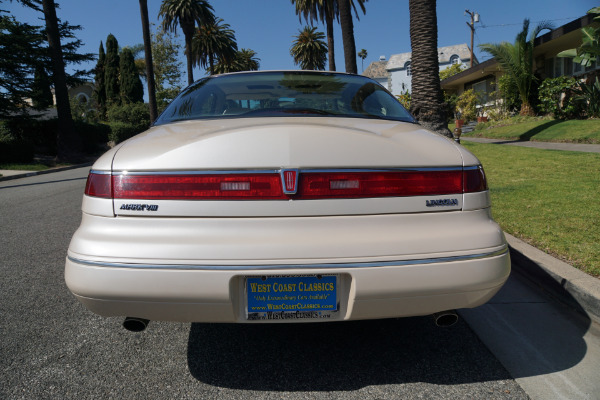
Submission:
[[[510,273],[505,244],[462,256],[306,265],[165,265],[66,260],[73,294],[104,316],[180,322],[263,322],[246,318],[248,276],[334,274],[339,312],[328,320],[428,315],[479,306]],[[293,322],[314,322],[298,319]],[[269,322],[291,322],[269,321]]]

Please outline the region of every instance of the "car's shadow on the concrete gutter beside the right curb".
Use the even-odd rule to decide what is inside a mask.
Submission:
[[[488,303],[460,315],[514,378],[567,371],[588,353],[592,321],[553,276],[511,248],[513,271]],[[589,362],[589,361],[588,361]],[[568,387],[561,388],[569,393]]]

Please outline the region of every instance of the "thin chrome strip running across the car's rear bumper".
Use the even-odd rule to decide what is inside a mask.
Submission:
[[[223,270],[223,271],[263,271],[278,269],[334,269],[334,268],[372,268],[372,267],[392,267],[405,265],[424,265],[442,262],[471,261],[483,258],[497,257],[508,253],[508,245],[500,250],[490,253],[470,254],[465,256],[421,258],[401,261],[381,261],[364,263],[331,263],[331,264],[278,264],[278,265],[170,265],[170,264],[127,264],[127,263],[105,263],[100,261],[86,261],[68,256],[67,258],[77,264],[88,265],[91,267],[109,267],[109,268],[130,268],[130,269],[160,269],[160,270]]]

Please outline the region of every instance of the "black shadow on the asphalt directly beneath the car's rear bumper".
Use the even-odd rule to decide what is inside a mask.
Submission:
[[[322,324],[191,326],[188,368],[225,388],[350,391],[370,385],[440,385],[511,379],[464,321],[431,317]]]

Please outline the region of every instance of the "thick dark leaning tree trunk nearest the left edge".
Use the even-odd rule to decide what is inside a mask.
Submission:
[[[56,137],[57,160],[60,162],[77,162],[81,157],[81,139],[75,132],[75,125],[71,117],[71,104],[67,89],[65,63],[60,45],[58,31],[58,18],[54,0],[42,0],[48,47],[52,58],[52,72],[54,81],[54,94],[56,96],[56,110],[58,114],[58,133]]]

